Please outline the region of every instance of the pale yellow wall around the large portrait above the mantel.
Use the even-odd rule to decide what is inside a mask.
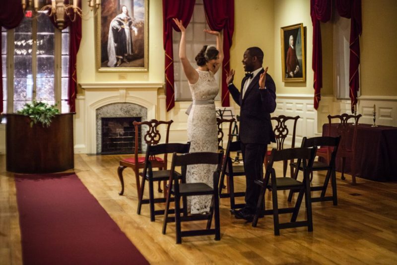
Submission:
[[[98,72],[95,64],[95,23],[92,12],[83,17],[82,39],[77,55],[79,83],[94,82],[164,82],[163,15],[162,1],[149,1],[149,71],[147,72]],[[83,3],[83,13],[88,6]],[[79,90],[79,92],[81,92]]]

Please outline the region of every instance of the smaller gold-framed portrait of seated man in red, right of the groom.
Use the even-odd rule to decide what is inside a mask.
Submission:
[[[283,82],[305,82],[305,38],[303,24],[281,28]]]

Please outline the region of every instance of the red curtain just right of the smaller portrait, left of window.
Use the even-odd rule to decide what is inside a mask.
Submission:
[[[313,24],[313,62],[314,71],[314,108],[317,110],[321,100],[320,90],[323,87],[323,58],[321,49],[320,21],[327,22],[331,19],[331,0],[310,0],[310,16]]]

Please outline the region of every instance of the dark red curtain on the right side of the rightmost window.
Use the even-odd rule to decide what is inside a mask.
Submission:
[[[350,21],[350,65],[349,65],[349,87],[351,110],[357,104],[357,91],[360,88],[360,76],[358,66],[360,65],[360,35],[361,23],[361,0],[335,0],[336,10],[339,15],[351,18]]]

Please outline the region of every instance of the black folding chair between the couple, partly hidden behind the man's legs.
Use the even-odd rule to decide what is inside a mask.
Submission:
[[[229,136],[229,140],[226,146],[225,158],[222,162],[222,171],[220,175],[220,185],[219,185],[219,198],[230,198],[230,209],[239,209],[242,208],[245,203],[235,203],[236,197],[244,197],[245,192],[235,192],[234,191],[234,177],[245,176],[245,170],[243,164],[234,164],[233,159],[231,158],[231,152],[238,152],[241,150],[240,141],[232,141],[232,136]],[[223,191],[223,182],[227,177],[227,187],[228,190],[226,193],[222,193]]]

